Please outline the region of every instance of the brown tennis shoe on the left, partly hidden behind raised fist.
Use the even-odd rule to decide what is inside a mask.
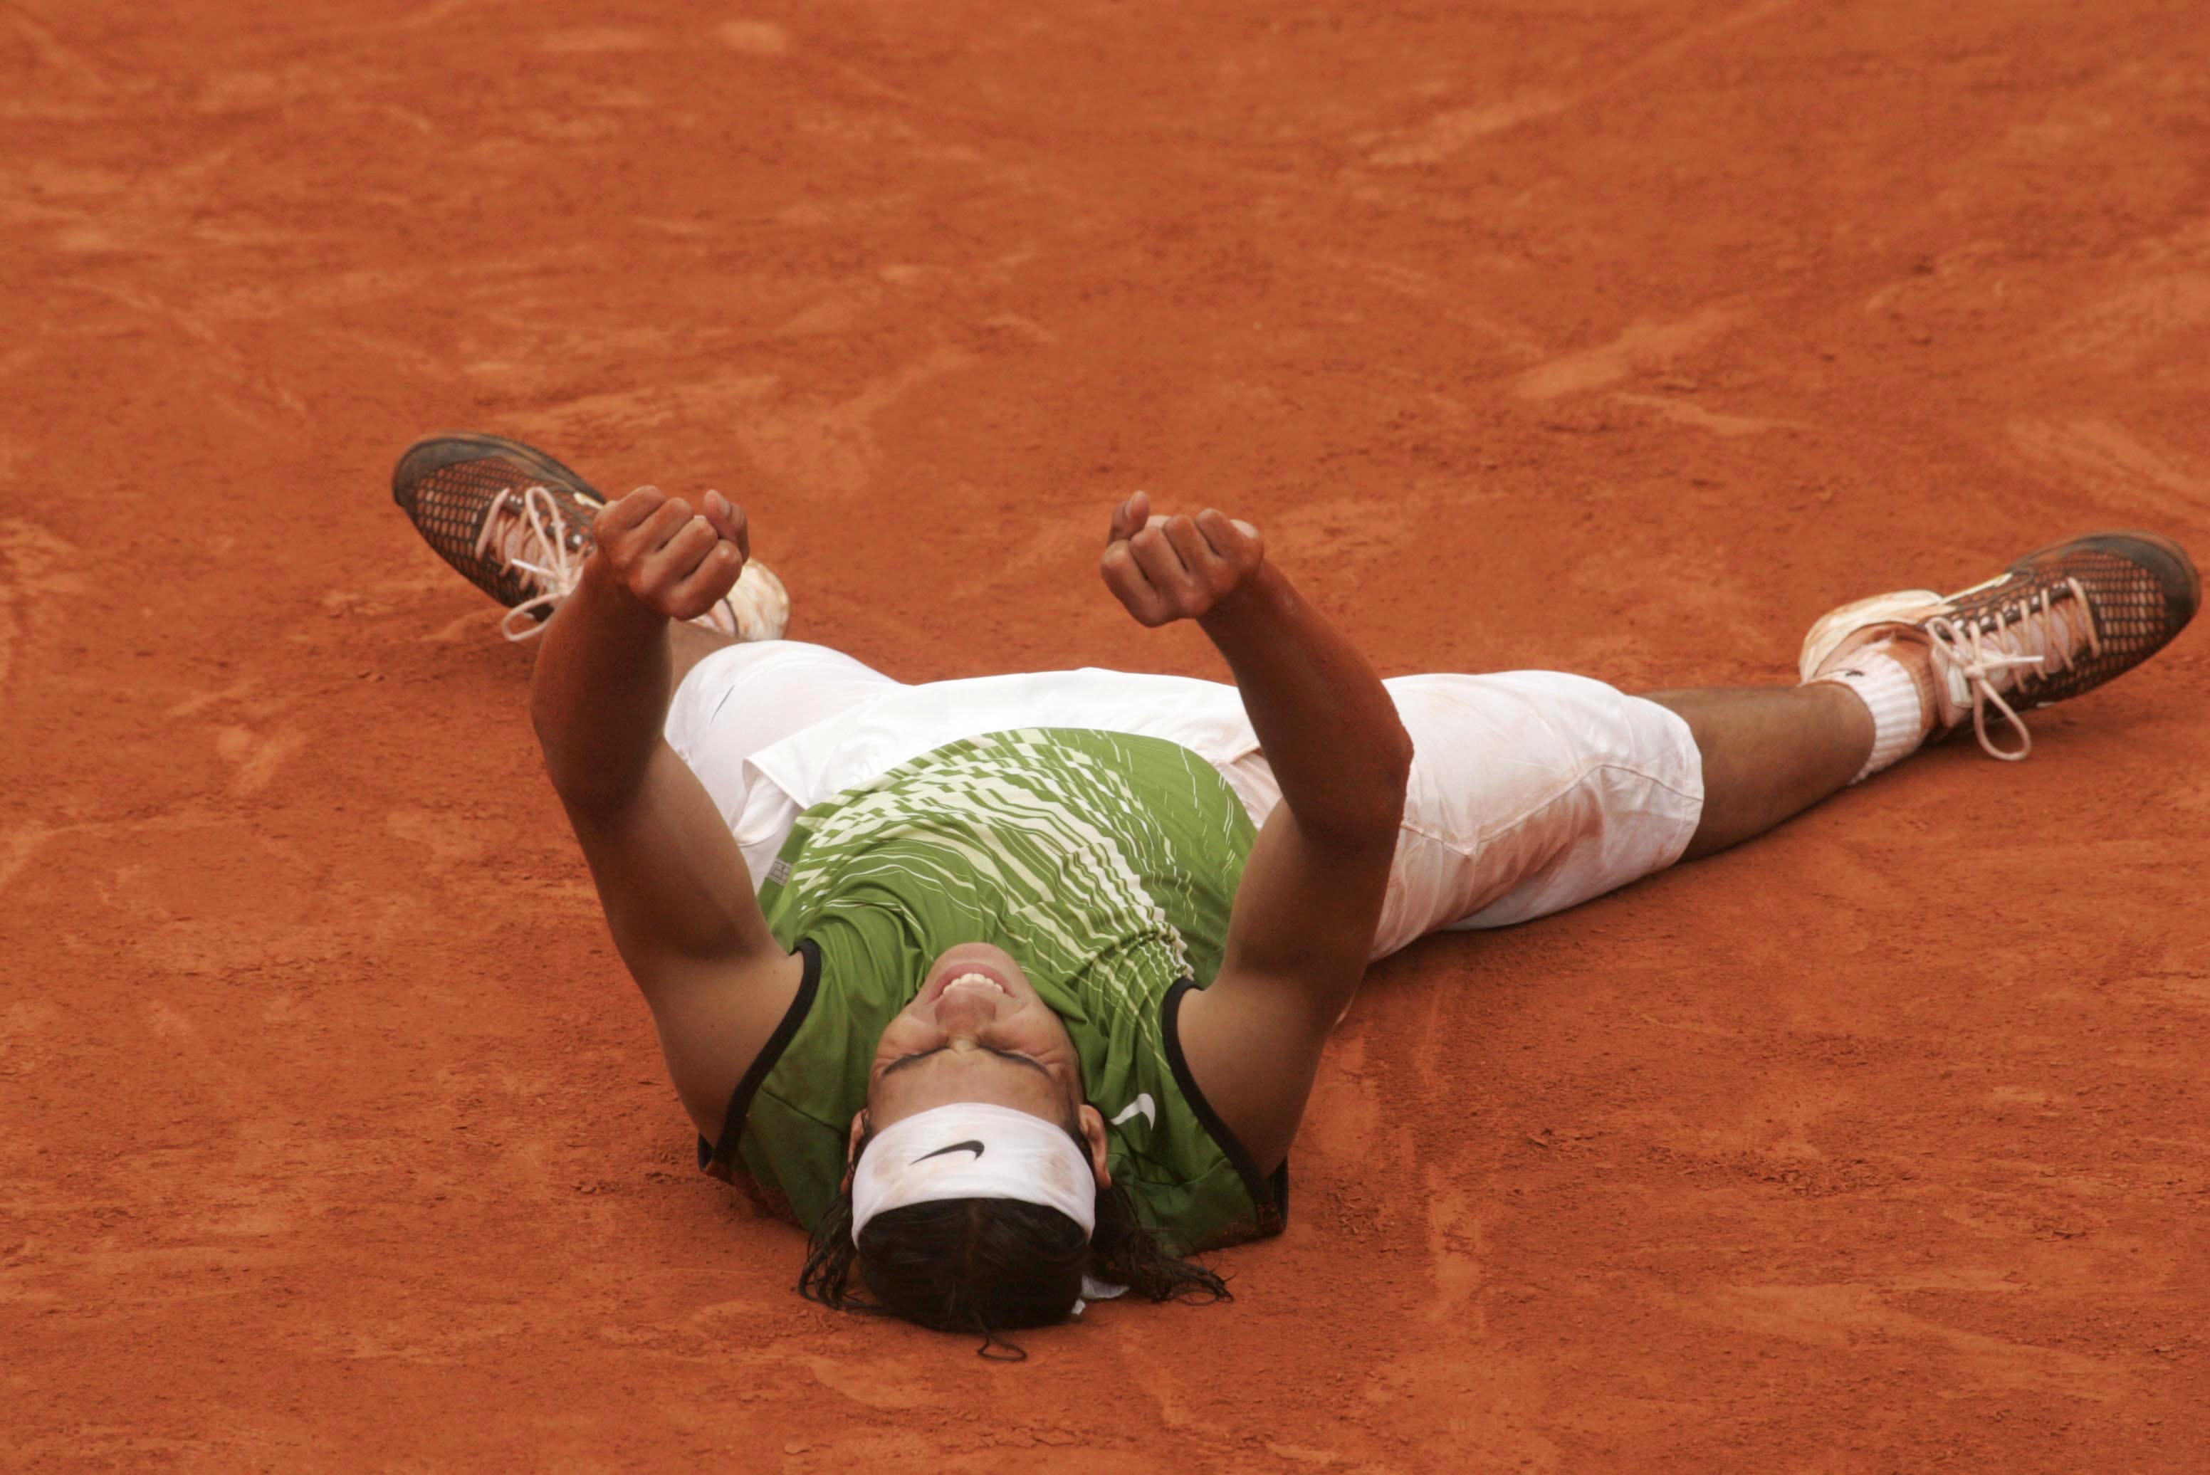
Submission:
[[[431,435],[391,470],[391,499],[440,559],[506,605],[499,634],[530,640],[583,576],[606,506],[588,481],[502,435]],[[736,640],[780,640],[791,596],[751,559],[736,587],[692,625]]]

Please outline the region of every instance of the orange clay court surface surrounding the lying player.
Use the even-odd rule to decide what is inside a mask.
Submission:
[[[2195,0],[0,4],[0,1464],[2186,1471],[2210,645],[1375,969],[1229,1307],[838,1316],[694,1170],[435,428],[732,492],[906,680],[1792,680],[2210,550]]]

